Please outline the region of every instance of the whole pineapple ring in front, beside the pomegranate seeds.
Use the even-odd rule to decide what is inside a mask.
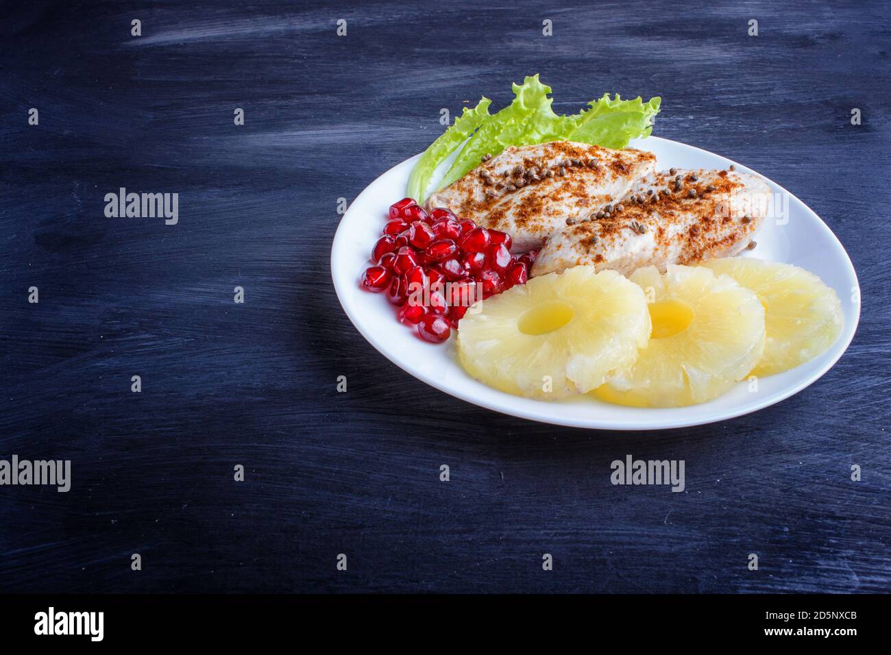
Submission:
[[[475,310],[479,310],[478,312]],[[495,389],[547,400],[600,386],[650,336],[642,289],[575,266],[486,299],[458,323],[464,370]]]

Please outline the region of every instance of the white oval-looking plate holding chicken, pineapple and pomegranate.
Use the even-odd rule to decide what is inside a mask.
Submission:
[[[712,152],[655,136],[634,141],[631,146],[656,154],[658,169],[726,168],[736,163]],[[511,396],[487,387],[464,373],[457,363],[454,331],[453,337],[442,345],[423,341],[416,330],[396,321],[395,310],[383,294],[368,293],[358,286],[364,268],[370,266],[368,256],[374,242],[380,237],[387,209],[405,196],[405,184],[418,157],[420,155],[390,168],[360,193],[347,210],[340,220],[331,248],[331,275],[340,304],[356,329],[374,348],[414,377],[454,397],[496,412],[579,428],[682,428],[741,416],[788,398],[826,373],[854,338],[860,318],[860,287],[845,249],[830,228],[804,202],[778,184],[766,180],[778,200],[788,198],[788,214],[764,219],[757,238],[758,246],[748,253],[748,257],[802,266],[819,275],[823,282],[838,292],[845,312],[845,327],[828,351],[791,371],[760,379],[756,391],[749,391],[748,384],[740,382],[729,393],[708,403],[676,409],[609,405],[587,396],[547,402]],[[736,167],[755,172],[740,164],[736,164]]]

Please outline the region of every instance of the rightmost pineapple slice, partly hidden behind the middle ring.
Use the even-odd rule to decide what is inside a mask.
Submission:
[[[740,257],[715,259],[703,266],[730,275],[755,291],[764,305],[767,340],[753,375],[782,373],[809,362],[841,334],[845,315],[838,295],[804,268]]]

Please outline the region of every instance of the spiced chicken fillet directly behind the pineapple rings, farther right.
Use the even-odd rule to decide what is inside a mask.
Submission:
[[[678,175],[681,187],[675,190]],[[667,264],[732,257],[751,242],[771,198],[770,187],[747,173],[652,173],[613,203],[609,217],[552,233],[532,274],[583,264],[631,274],[641,266],[665,270]]]

